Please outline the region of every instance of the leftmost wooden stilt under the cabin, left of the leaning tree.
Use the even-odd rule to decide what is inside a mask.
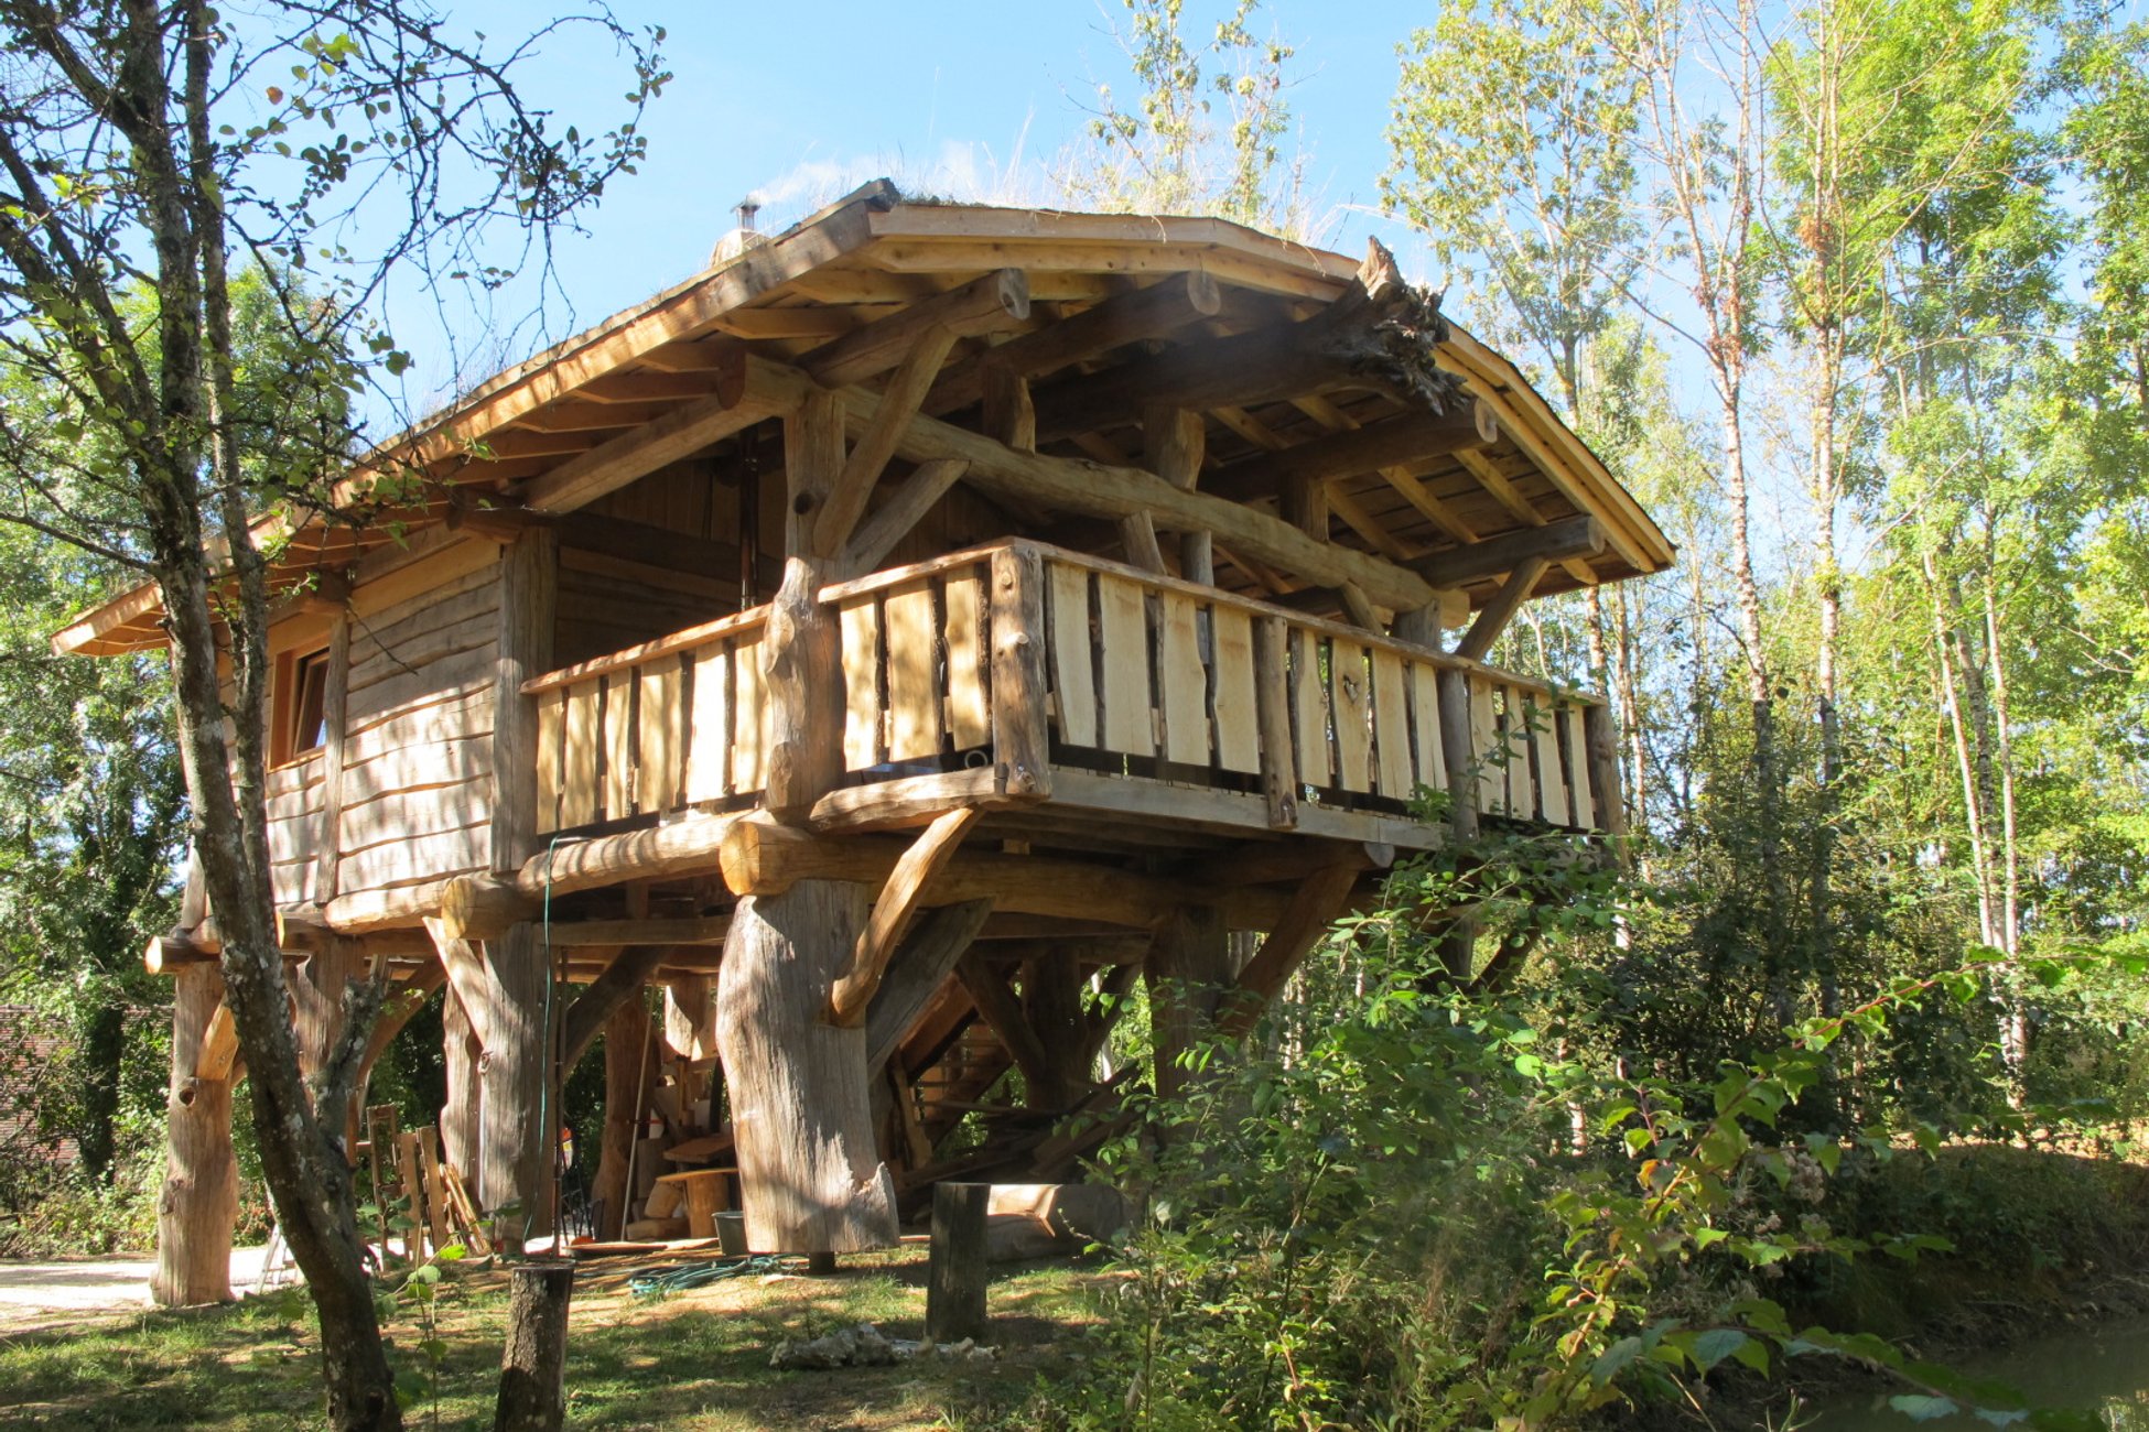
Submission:
[[[202,1078],[208,1022],[223,998],[213,964],[187,964],[172,992],[172,1086],[165,1095],[170,1146],[157,1196],[157,1271],[150,1295],[163,1307],[232,1299],[232,1222],[239,1164],[232,1157],[232,1076]]]

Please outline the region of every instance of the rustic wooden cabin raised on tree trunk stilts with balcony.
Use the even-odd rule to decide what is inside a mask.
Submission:
[[[1603,702],[1485,655],[1530,597],[1672,560],[1378,245],[885,182],[735,234],[344,492],[273,520],[301,1058],[352,977],[395,981],[376,1052],[445,988],[441,1157],[542,1230],[548,1091],[604,1033],[604,1232],[688,1144],[765,1252],[888,1245],[948,1177],[1077,1174],[1137,981],[1169,1086],[1399,854],[1620,831]],[[159,642],[155,588],[56,638]],[[165,1239],[213,1247],[217,949],[200,900],[150,947]],[[168,1254],[159,1292],[221,1280]]]

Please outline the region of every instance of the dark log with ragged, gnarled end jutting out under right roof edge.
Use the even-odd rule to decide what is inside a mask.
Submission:
[[[1304,322],[1184,344],[1053,384],[1038,395],[1038,440],[1115,427],[1143,404],[1244,408],[1341,386],[1442,412],[1461,391],[1433,363],[1444,337],[1438,294],[1403,283],[1375,245],[1358,286]]]

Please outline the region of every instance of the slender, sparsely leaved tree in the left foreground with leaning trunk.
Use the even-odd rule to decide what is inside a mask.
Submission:
[[[539,39],[569,28],[619,45],[632,69],[612,129],[554,131],[518,90]],[[329,1421],[400,1426],[340,1121],[314,1104],[340,1108],[367,1011],[352,1007],[309,1091],[275,945],[262,809],[273,543],[297,502],[337,511],[359,496],[333,485],[365,378],[346,354],[404,363],[367,326],[367,301],[398,268],[492,273],[479,260],[494,223],[544,234],[630,170],[634,114],[664,79],[655,36],[595,9],[501,49],[404,0],[245,15],[206,0],[0,2],[0,354],[75,414],[11,434],[0,515],[159,588],[189,839],[226,940],[264,1177],[320,1320]],[[251,369],[234,290],[247,255],[273,318]],[[314,266],[329,277],[309,294],[299,281]],[[129,309],[133,292],[150,296],[146,313]]]

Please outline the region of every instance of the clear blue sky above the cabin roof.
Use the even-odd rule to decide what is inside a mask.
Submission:
[[[1191,0],[1186,9],[1186,36],[1199,43],[1225,4]],[[1356,251],[1367,232],[1380,232],[1410,271],[1418,271],[1418,249],[1408,232],[1367,210],[1386,163],[1395,45],[1433,13],[1418,4],[1272,0],[1255,15],[1257,32],[1296,49],[1287,69],[1294,146],[1311,155],[1322,238]],[[494,36],[531,24],[527,11],[499,0],[458,4],[451,15]],[[675,79],[643,127],[649,163],[608,193],[587,236],[559,245],[574,316],[554,316],[550,335],[587,326],[701,268],[748,193],[767,200],[765,230],[879,174],[950,198],[1047,200],[1047,170],[1083,142],[1081,105],[1094,103],[1096,84],[1109,82],[1133,99],[1111,34],[1124,15],[1120,0],[623,0],[623,21],[666,28]],[[610,99],[623,79],[619,64],[576,58],[572,47],[546,56],[542,71],[546,90],[563,97],[582,90]],[[565,101],[561,112],[569,118]],[[410,313],[398,316],[398,339],[419,359],[410,399],[423,408],[449,382],[449,361],[419,328]],[[458,333],[458,346],[481,348],[473,337]]]

